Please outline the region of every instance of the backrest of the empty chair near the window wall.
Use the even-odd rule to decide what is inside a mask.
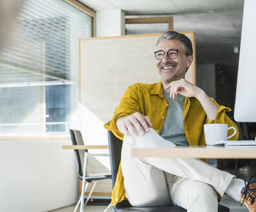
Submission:
[[[84,145],[83,137],[80,131],[75,129],[69,130],[72,145]],[[87,150],[86,150],[87,151]],[[76,156],[76,170],[78,171],[78,178],[83,179],[83,161],[85,160],[85,155],[83,151],[79,151],[78,149],[74,149],[74,153]]]

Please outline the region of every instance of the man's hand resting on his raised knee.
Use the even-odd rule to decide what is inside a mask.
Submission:
[[[130,116],[118,118],[116,126],[118,130],[126,136],[138,136],[138,133],[144,135],[149,131],[152,123],[148,116],[142,115],[140,112],[134,112]]]

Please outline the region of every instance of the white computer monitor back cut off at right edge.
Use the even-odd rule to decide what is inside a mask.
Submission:
[[[234,118],[256,122],[256,1],[244,1]]]

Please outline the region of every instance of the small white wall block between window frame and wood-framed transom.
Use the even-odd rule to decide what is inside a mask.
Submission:
[[[96,37],[125,35],[125,13],[122,10],[96,12]]]

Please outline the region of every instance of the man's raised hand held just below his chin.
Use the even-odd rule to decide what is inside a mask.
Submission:
[[[170,92],[171,98],[175,98],[178,94],[186,97],[198,98],[198,95],[204,92],[199,87],[189,83],[189,81],[186,81],[186,79],[172,81],[169,85],[165,86],[164,89]]]

